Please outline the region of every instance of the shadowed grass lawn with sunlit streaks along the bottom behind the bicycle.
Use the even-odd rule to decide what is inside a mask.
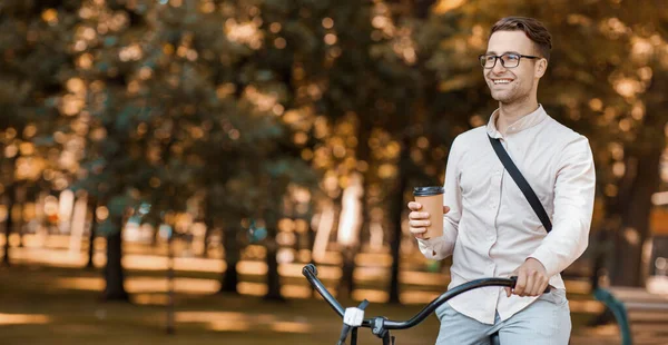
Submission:
[[[176,334],[167,335],[166,307],[160,305],[164,294],[144,293],[143,304],[104,303],[99,290],[59,283],[81,278],[90,282],[100,276],[99,272],[35,265],[0,269],[0,344],[310,345],[334,344],[341,329],[341,319],[320,299],[281,303],[250,296],[179,294],[175,299]],[[366,315],[404,319],[420,308],[372,303]],[[574,333],[583,329],[591,316],[573,314]],[[439,322],[432,316],[394,335],[402,345],[433,344],[438,328]],[[369,329],[362,329],[360,343],[375,344],[377,339]]]

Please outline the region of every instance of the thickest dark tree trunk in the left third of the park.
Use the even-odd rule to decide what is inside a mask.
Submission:
[[[107,265],[105,266],[105,280],[107,283],[102,298],[105,300],[129,302],[128,293],[125,289],[125,273],[122,269],[122,226],[121,217],[116,219],[118,231],[107,236]]]

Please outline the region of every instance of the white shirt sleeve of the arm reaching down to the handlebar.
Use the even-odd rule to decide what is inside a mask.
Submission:
[[[588,246],[593,214],[596,171],[589,141],[580,136],[562,150],[554,183],[552,230],[529,256],[553,276],[571,265]]]

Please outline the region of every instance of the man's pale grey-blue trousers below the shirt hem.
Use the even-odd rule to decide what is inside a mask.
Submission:
[[[436,309],[441,328],[436,345],[490,345],[490,335],[499,332],[501,345],[567,345],[571,318],[566,290],[552,288],[531,305],[494,325],[483,324],[444,303]]]

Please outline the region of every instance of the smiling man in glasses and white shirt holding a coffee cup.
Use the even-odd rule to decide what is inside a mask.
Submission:
[[[571,319],[560,272],[584,252],[593,210],[589,141],[548,116],[537,100],[550,59],[541,22],[511,17],[491,29],[480,57],[499,108],[489,124],[455,138],[445,169],[443,236],[424,238],[429,214],[410,203],[409,225],[431,259],[452,255],[453,288],[482,277],[518,276],[514,289],[484,287],[442,305],[436,344],[568,344]],[[546,231],[488,136],[504,149],[550,216]],[[550,285],[551,292],[543,294]]]

